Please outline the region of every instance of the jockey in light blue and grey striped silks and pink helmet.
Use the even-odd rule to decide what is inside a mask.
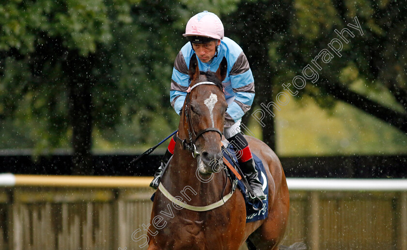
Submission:
[[[241,118],[250,109],[254,99],[254,79],[243,50],[233,40],[223,36],[223,24],[219,17],[207,11],[189,19],[183,36],[187,37],[189,42],[181,48],[174,62],[170,91],[172,107],[180,114],[187,95],[188,65],[193,54],[197,55],[199,68],[202,71],[215,72],[225,57],[228,69],[222,84],[225,88],[228,108],[225,114],[223,134],[237,148],[236,156],[239,156],[240,168],[246,175],[255,195],[262,200],[266,199],[258,172],[254,168],[249,143],[240,131]],[[176,140],[174,137],[172,137],[150,187],[155,189],[158,187],[163,167],[174,153]],[[248,196],[248,194],[246,195]]]

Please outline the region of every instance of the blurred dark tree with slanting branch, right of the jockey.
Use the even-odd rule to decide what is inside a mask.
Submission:
[[[242,1],[226,23],[229,35],[246,48],[259,90],[257,105],[277,103],[282,84],[291,84],[289,89],[298,91],[294,98],[312,96],[324,108],[340,100],[407,133],[406,11],[405,4],[387,0]],[[363,35],[347,26],[356,26],[355,17]],[[344,33],[347,44],[335,32],[344,28],[354,34]],[[330,50],[334,58],[319,59],[317,68],[312,60],[334,38],[342,41],[342,56]],[[304,77],[307,64],[319,79],[306,79],[305,88],[296,89],[293,78]],[[306,73],[312,75],[310,69]],[[275,148],[273,117],[264,117],[263,140]]]

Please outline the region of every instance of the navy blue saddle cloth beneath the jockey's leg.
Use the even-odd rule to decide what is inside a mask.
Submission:
[[[223,151],[223,156],[226,158],[227,161],[229,161],[230,164],[232,164],[233,166],[235,166],[235,163],[237,163],[237,157],[235,155],[235,150],[233,148],[232,144],[228,145],[227,151],[229,151],[229,154],[234,158],[234,160],[231,159],[231,157],[229,156],[229,154],[226,151]],[[246,187],[243,185],[242,181],[238,181],[237,182],[237,187],[242,191],[243,193],[243,197],[245,198],[245,203],[246,203],[246,222],[253,222],[253,221],[257,221],[257,220],[261,220],[261,219],[266,219],[267,215],[268,215],[268,182],[267,182],[267,174],[266,174],[266,170],[263,166],[263,162],[262,160],[257,157],[256,155],[253,155],[253,159],[254,162],[256,164],[255,168],[257,170],[257,172],[259,172],[259,179],[260,182],[262,183],[262,188],[263,188],[263,192],[266,194],[266,200],[263,200],[262,202],[256,200],[256,202],[250,203],[249,200],[246,198]],[[234,178],[237,179],[237,177],[235,176],[235,174],[230,171],[229,174],[231,176],[233,176]],[[155,197],[156,193],[154,193],[151,196],[151,201],[154,202],[154,197]],[[258,209],[257,211],[254,208]]]

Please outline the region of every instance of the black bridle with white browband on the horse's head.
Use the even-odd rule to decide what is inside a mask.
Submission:
[[[204,84],[218,86],[217,84],[215,84],[215,83],[213,83],[211,81],[203,81],[203,82],[199,82],[199,83],[193,85],[192,87],[188,87],[188,90],[187,90],[188,94],[186,96],[186,103],[185,103],[185,110],[184,110],[184,121],[185,121],[185,119],[187,119],[187,123],[188,123],[188,129],[187,130],[188,130],[189,140],[187,140],[187,139],[182,140],[181,138],[178,137],[178,134],[177,134],[177,139],[179,141],[181,141],[183,148],[188,150],[189,152],[191,152],[192,157],[194,157],[194,158],[196,156],[200,155],[200,153],[196,150],[195,143],[196,143],[196,140],[201,135],[203,135],[203,133],[206,133],[206,132],[209,132],[209,131],[215,131],[215,132],[219,133],[220,139],[222,139],[222,132],[216,127],[208,127],[208,128],[205,128],[205,129],[199,131],[198,133],[195,133],[195,130],[194,130],[193,125],[192,125],[191,116],[190,116],[191,107],[189,105],[189,102],[190,102],[190,99],[191,99],[190,93],[192,92],[192,90],[195,87],[197,87],[199,85],[204,85]]]

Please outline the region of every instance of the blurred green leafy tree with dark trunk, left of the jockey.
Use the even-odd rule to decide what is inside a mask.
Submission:
[[[112,139],[133,125],[128,143],[168,134],[173,60],[188,18],[231,12],[237,0],[12,0],[0,5],[0,122],[19,124],[39,149],[66,146],[73,173],[92,174],[92,135]],[[10,122],[11,120],[11,122]],[[27,125],[29,124],[29,125]],[[25,126],[24,126],[25,125]],[[39,135],[39,136],[38,136]],[[131,138],[132,137],[132,138]],[[10,137],[12,139],[12,137]],[[70,144],[68,142],[68,145]]]

